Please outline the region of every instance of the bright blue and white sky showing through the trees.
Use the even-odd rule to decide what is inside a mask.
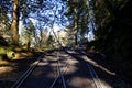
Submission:
[[[56,33],[59,30],[64,30],[66,26],[70,24],[69,19],[64,15],[65,11],[67,10],[67,4],[65,1],[62,0],[46,0],[42,3],[42,6],[31,11],[26,19],[22,19],[22,15],[20,16],[20,32],[21,34],[21,26],[29,28],[30,22],[33,23],[33,25],[36,28],[36,33],[40,35],[40,30],[47,29],[48,32],[54,30]],[[11,14],[8,14],[8,16],[11,20]],[[36,25],[40,23],[41,29]],[[90,25],[89,25],[90,26]],[[89,28],[92,30],[92,28]],[[52,32],[51,32],[52,34]],[[57,34],[57,33],[56,33]],[[94,40],[94,33],[89,32],[86,37],[91,41]]]

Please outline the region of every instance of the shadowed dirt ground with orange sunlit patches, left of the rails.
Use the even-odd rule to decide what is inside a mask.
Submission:
[[[10,88],[40,54],[40,52],[19,53],[13,58],[0,59],[0,88]]]

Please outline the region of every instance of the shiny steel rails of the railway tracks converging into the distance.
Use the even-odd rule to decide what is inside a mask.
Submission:
[[[74,52],[76,52],[76,51],[74,51]],[[81,53],[79,53],[79,54],[80,54],[80,56],[82,55]],[[66,75],[67,69],[68,69],[67,66],[69,65],[70,55],[67,54],[67,57],[65,58],[65,63],[63,63],[63,65],[62,65],[62,59],[63,59],[64,55],[62,56],[59,51],[57,51],[55,53],[55,56],[57,59],[55,62],[57,66],[55,67],[56,73],[54,73],[55,74],[54,80],[52,80],[52,82],[51,82],[51,85],[48,85],[48,87],[44,87],[44,88],[68,88],[67,85],[69,85],[69,84],[67,82],[67,79],[65,79],[65,75]],[[38,57],[38,59],[35,63],[33,63],[33,65],[20,77],[20,79],[18,79],[18,81],[11,88],[21,88],[21,85],[30,76],[30,74],[33,72],[33,69],[37,66],[37,64],[40,63],[42,57],[43,57],[43,55],[41,55]],[[95,84],[95,86],[90,87],[90,88],[103,88],[101,81],[99,80],[98,75],[96,74],[96,70],[94,69],[94,67],[89,63],[86,63],[85,66],[87,66],[86,68],[90,73],[89,75],[91,76],[94,84]],[[85,88],[89,88],[89,87],[85,87]]]

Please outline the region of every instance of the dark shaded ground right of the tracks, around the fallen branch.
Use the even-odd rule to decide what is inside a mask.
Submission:
[[[123,72],[124,68],[120,67],[119,64],[117,64],[114,61],[111,61],[107,56],[102,56],[99,53],[89,53],[88,57],[94,59],[96,63],[98,63],[100,66],[109,69],[112,73],[116,73],[116,75],[111,75],[107,73],[106,70],[99,69],[98,67],[95,67],[97,74],[99,77],[105,80],[106,82],[109,82],[113,86],[113,88],[132,88],[132,79],[131,76],[129,76],[129,70]]]

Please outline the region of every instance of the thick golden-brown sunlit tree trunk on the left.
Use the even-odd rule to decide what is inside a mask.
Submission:
[[[11,24],[13,44],[19,42],[19,0],[13,0],[13,20]]]

